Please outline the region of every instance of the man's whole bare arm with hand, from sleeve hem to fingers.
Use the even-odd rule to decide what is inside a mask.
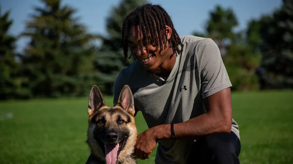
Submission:
[[[232,103],[230,88],[204,99],[207,113],[186,122],[174,124],[177,140],[196,140],[212,133],[231,131]],[[172,140],[170,124],[149,128],[137,137],[136,158],[146,159],[159,140]]]

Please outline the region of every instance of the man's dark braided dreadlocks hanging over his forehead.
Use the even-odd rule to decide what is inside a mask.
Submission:
[[[167,47],[167,41],[170,45],[170,48],[172,47],[174,54],[175,52],[182,52],[182,49],[180,51],[178,48],[178,45],[181,44],[181,39],[174,29],[170,16],[161,6],[148,3],[137,7],[124,19],[122,26],[122,45],[124,50],[125,63],[127,63],[128,57],[128,30],[130,27],[137,25],[139,27],[141,49],[143,49],[143,46],[145,46],[147,55],[149,54],[147,45],[153,44],[156,47],[155,52],[158,51],[160,46],[159,53],[161,53],[163,46],[165,45],[165,48]],[[169,26],[172,30],[172,35],[168,40],[166,34],[166,25]],[[144,41],[142,38],[144,38]],[[129,58],[130,57],[131,55]]]

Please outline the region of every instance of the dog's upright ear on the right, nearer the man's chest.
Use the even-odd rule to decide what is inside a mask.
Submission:
[[[132,96],[132,92],[130,88],[127,85],[125,85],[124,88],[122,89],[117,105],[121,106],[128,113],[134,115],[135,109],[134,109],[133,96]]]

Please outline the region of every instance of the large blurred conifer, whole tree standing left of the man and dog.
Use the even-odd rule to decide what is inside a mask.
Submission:
[[[61,0],[41,0],[22,36],[30,43],[21,56],[23,87],[33,96],[81,96],[94,83],[94,35],[74,17],[76,10]]]

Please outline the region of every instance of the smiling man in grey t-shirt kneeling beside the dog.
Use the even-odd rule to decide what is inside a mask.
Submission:
[[[125,60],[128,46],[137,60],[118,75],[114,103],[128,85],[149,127],[137,137],[136,158],[149,158],[158,142],[156,164],[239,164],[231,83],[214,41],[179,37],[152,4],[125,18],[122,36]]]

